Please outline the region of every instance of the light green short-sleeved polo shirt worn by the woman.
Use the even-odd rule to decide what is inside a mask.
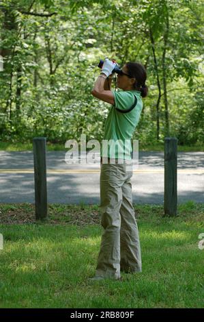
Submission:
[[[131,138],[139,123],[143,101],[139,90],[119,90],[112,91],[115,99],[115,105],[111,106],[104,125],[104,138],[100,149],[100,156],[108,158],[119,158],[131,160]],[[135,101],[135,108],[127,113],[121,113],[119,110],[128,110]]]

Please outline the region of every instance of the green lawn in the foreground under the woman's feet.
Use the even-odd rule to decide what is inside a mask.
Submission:
[[[1,308],[202,308],[204,204],[134,205],[143,272],[90,282],[100,248],[98,205],[48,205],[35,222],[29,203],[0,205]],[[9,223],[9,224],[8,224]]]

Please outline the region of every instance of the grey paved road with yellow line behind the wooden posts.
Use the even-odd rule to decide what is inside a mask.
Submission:
[[[66,164],[47,151],[48,203],[100,203],[100,164]],[[178,202],[204,202],[204,152],[179,152]],[[164,153],[139,152],[132,176],[134,203],[163,203]],[[32,151],[0,151],[0,203],[35,202]]]

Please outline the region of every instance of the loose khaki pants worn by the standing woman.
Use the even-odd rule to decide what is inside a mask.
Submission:
[[[96,276],[117,280],[121,271],[141,272],[141,247],[132,206],[131,177],[132,165],[129,163],[101,163],[100,211],[104,232]]]

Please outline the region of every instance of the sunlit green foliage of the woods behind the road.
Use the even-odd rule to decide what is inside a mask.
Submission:
[[[26,142],[46,136],[53,143],[64,143],[82,133],[101,140],[110,106],[90,92],[98,61],[108,56],[121,65],[139,61],[147,68],[149,96],[134,133],[142,145],[162,143],[166,122],[169,135],[177,136],[181,145],[204,142],[202,1],[1,3],[1,140]],[[162,96],[157,113],[158,79]]]

